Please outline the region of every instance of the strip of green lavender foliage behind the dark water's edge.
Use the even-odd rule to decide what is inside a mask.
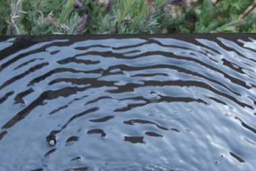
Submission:
[[[5,0],[0,34],[157,34],[255,32],[254,0]],[[189,1],[189,0],[187,0]],[[87,15],[87,20],[83,17]],[[83,20],[84,19],[84,20]],[[81,27],[83,30],[79,30]]]

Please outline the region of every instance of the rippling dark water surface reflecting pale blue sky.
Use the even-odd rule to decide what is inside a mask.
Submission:
[[[0,170],[255,170],[256,35],[0,40]]]

